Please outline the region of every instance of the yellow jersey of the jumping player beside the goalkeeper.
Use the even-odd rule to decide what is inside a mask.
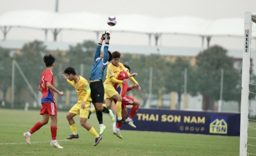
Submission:
[[[120,62],[118,63],[118,66],[115,66],[113,65],[113,63],[110,63],[107,68],[106,80],[103,84],[111,82],[114,85],[115,83],[111,81],[111,77],[115,76],[115,78],[117,79],[118,75],[122,70],[127,71],[128,69],[125,68],[124,65]]]

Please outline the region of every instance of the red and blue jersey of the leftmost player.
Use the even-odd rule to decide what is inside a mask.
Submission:
[[[41,75],[41,80],[39,83],[39,85],[42,86],[42,92],[43,92],[41,103],[54,102],[53,91],[47,88],[47,85],[46,85],[47,81],[51,82],[53,86],[53,74],[52,74],[52,71],[49,69],[44,70],[44,72]]]

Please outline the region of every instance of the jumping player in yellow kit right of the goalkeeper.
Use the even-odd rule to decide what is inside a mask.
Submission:
[[[127,79],[124,79],[123,81],[117,80],[117,77],[122,70],[127,71],[127,69],[124,67],[124,65],[119,62],[120,56],[121,56],[121,54],[118,51],[114,51],[112,53],[112,58],[113,58],[112,63],[108,65],[106,80],[103,83],[104,90],[105,90],[104,99],[105,99],[105,102],[106,102],[106,105],[108,108],[110,108],[113,99],[116,99],[116,101],[117,101],[116,102],[117,122],[128,123],[129,121],[125,121],[124,119],[122,119],[122,115],[121,115],[122,97],[120,94],[118,94],[118,92],[114,88],[115,83],[128,82]],[[132,80],[132,82],[139,85],[139,83],[133,78],[133,76],[138,75],[137,73],[130,74],[127,71],[127,75]],[[141,90],[140,85],[139,85],[138,89]]]

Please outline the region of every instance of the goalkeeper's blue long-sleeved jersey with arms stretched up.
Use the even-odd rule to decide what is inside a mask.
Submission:
[[[90,80],[103,80],[104,69],[108,65],[108,44],[104,46],[104,57],[100,58],[101,44],[97,45]]]

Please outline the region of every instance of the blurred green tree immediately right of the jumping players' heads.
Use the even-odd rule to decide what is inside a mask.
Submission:
[[[141,106],[144,106],[148,100],[150,67],[153,69],[152,95],[158,95],[158,90],[164,89],[164,71],[162,69],[166,61],[160,55],[137,55],[133,57],[131,54],[125,54],[121,57],[120,62],[128,64],[131,67],[131,73],[138,73],[135,79],[139,82],[142,90],[134,90],[133,92],[143,99],[144,103]],[[152,99],[154,98],[157,99],[157,96],[152,97]]]

